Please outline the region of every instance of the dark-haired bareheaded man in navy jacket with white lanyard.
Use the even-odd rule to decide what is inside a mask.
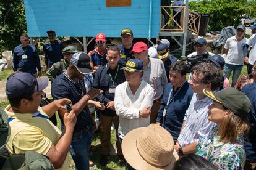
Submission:
[[[189,108],[193,91],[186,81],[186,74],[189,72],[186,63],[176,62],[169,72],[169,80],[161,100],[160,109],[156,124],[164,127],[177,141],[179,132],[186,113]]]

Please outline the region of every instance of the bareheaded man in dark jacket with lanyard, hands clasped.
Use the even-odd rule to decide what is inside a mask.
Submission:
[[[100,102],[106,105],[105,110],[100,111],[100,124],[101,124],[101,166],[105,166],[108,162],[108,155],[110,152],[110,138],[111,138],[111,125],[114,123],[116,129],[116,148],[119,159],[122,161],[121,144],[118,140],[118,126],[119,118],[116,115],[114,108],[114,94],[116,87],[126,81],[124,78],[124,71],[121,70],[122,66],[118,63],[120,59],[119,49],[116,46],[108,48],[106,60],[108,63],[105,67],[101,67],[96,71],[93,87],[103,90],[103,94],[97,96]]]

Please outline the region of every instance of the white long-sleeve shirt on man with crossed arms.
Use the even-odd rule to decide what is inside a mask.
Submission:
[[[153,105],[154,90],[144,80],[141,81],[139,88],[132,94],[129,84],[125,81],[116,87],[114,95],[114,108],[116,115],[119,116],[119,134],[122,139],[132,129],[147,127],[150,124],[148,118],[139,118],[139,111],[142,108]]]

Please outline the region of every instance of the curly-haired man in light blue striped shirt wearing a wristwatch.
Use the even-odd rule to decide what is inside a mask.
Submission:
[[[208,106],[213,103],[213,100],[203,94],[203,89],[215,91],[220,87],[220,71],[211,63],[199,63],[192,68],[192,73],[189,83],[194,94],[175,145],[180,156],[195,153],[198,140],[210,132],[215,124],[207,119]]]

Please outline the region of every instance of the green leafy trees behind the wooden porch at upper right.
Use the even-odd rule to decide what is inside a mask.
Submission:
[[[189,2],[189,9],[197,13],[211,14],[208,30],[221,30],[226,26],[241,24],[241,16],[250,10],[247,0],[211,0]]]

